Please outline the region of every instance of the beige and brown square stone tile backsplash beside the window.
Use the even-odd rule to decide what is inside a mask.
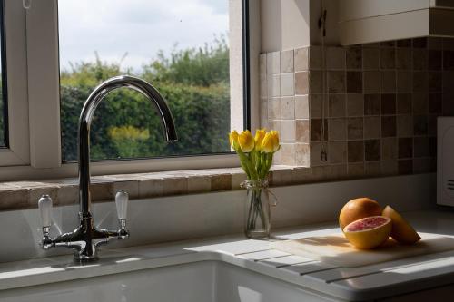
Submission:
[[[437,117],[454,114],[454,39],[326,47],[325,56],[322,70],[318,45],[261,54],[262,127],[282,136],[276,163],[323,179],[434,171]]]

